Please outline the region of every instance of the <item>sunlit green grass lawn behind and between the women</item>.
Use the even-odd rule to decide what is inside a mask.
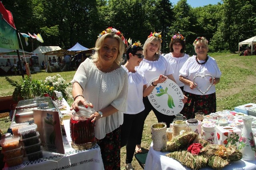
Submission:
[[[231,53],[209,53],[211,57],[216,59],[218,66],[222,72],[220,83],[216,85],[217,111],[224,109],[234,109],[247,103],[256,103],[256,56],[238,56]],[[60,74],[67,82],[71,81],[75,71],[69,72],[38,72],[32,74],[32,78],[44,80],[46,76],[54,76]],[[21,76],[9,76],[12,80],[20,81]],[[5,77],[0,77],[0,96],[11,95],[14,90]],[[71,104],[72,100],[68,100]],[[4,119],[0,119],[0,129],[5,133],[10,126],[10,121],[4,123]],[[151,143],[150,126],[156,123],[154,113],[148,115],[143,131],[142,147],[149,149]],[[124,169],[125,163],[125,147],[121,149],[121,170]],[[136,159],[132,162],[136,170],[142,169]]]

